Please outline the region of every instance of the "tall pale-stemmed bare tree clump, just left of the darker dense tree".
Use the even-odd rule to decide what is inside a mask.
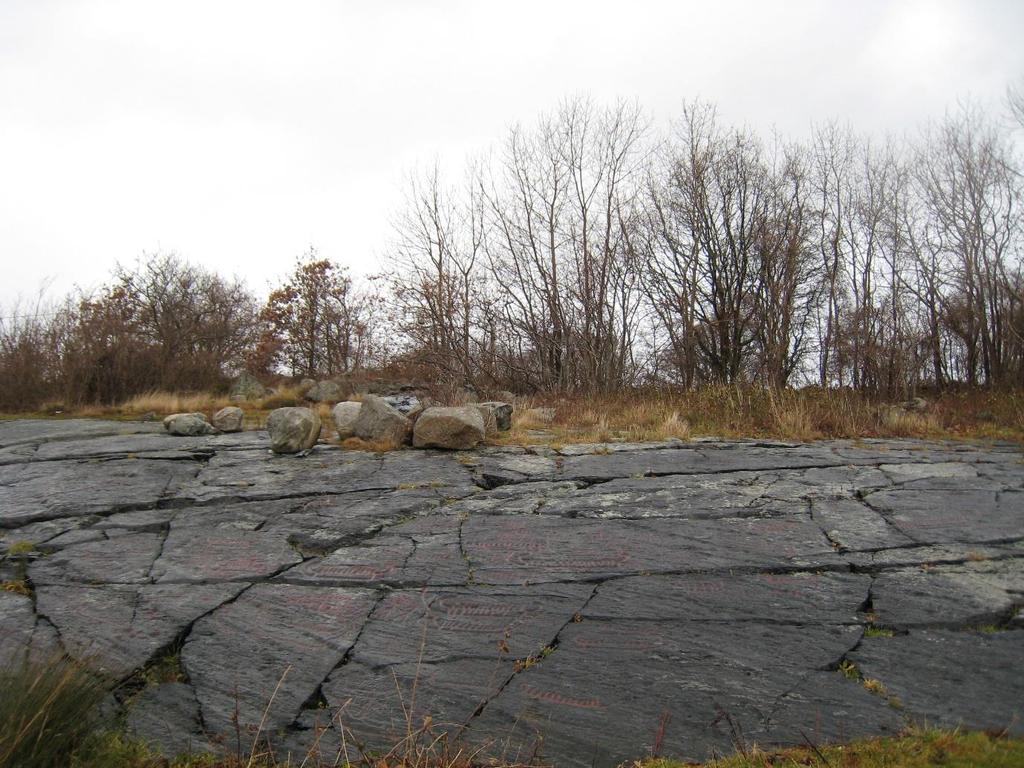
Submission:
[[[486,179],[489,271],[536,386],[607,389],[633,375],[644,131],[635,104],[570,99],[535,131],[513,129]]]

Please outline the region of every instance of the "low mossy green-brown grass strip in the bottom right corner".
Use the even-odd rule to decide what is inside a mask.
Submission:
[[[682,768],[696,765],[654,759],[636,768]],[[891,738],[845,745],[809,744],[791,750],[745,754],[713,760],[707,768],[1018,768],[1024,765],[1024,740],[982,732],[913,730]]]

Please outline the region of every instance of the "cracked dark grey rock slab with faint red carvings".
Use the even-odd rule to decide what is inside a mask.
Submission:
[[[425,718],[581,767],[1021,732],[1014,446],[268,445],[0,423],[0,663],[102,669],[168,757],[355,761]]]

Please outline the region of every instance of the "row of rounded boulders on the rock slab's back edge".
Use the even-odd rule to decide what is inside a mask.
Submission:
[[[315,385],[319,387],[325,383]],[[164,428],[171,434],[184,436],[240,432],[244,416],[242,409],[236,406],[221,409],[211,421],[201,413],[172,414],[164,419]],[[424,449],[465,450],[512,428],[512,406],[508,402],[428,407],[411,394],[383,397],[368,394],[361,400],[344,400],[334,407],[331,417],[339,440],[357,437],[374,445],[390,447],[412,444]],[[313,409],[280,408],[267,417],[266,430],[270,435],[270,450],[275,454],[301,454],[316,444],[323,424]]]

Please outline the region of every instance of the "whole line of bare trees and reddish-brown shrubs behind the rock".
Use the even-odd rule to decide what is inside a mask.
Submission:
[[[800,142],[684,105],[563,102],[460,184],[415,175],[382,272],[310,249],[260,300],[171,254],[0,318],[0,408],[210,389],[242,370],[402,370],[611,391],[817,384],[899,396],[1024,386],[1017,128],[967,104],[913,140]]]

